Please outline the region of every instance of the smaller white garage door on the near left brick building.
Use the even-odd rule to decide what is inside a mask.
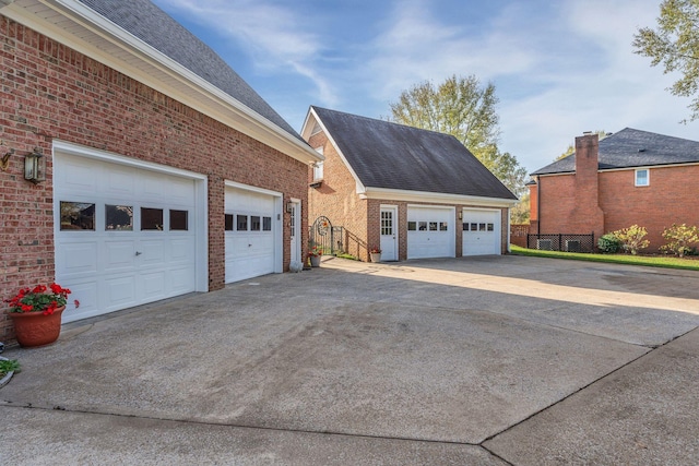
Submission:
[[[226,283],[281,272],[274,215],[277,199],[226,187]]]

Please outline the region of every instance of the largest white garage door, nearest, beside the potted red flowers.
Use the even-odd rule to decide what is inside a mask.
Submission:
[[[197,289],[194,179],[61,153],[54,174],[64,322]]]

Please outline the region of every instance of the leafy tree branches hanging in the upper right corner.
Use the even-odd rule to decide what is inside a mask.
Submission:
[[[633,47],[635,53],[652,59],[652,67],[663,63],[665,73],[682,74],[670,92],[694,97],[689,105],[690,119],[699,119],[699,1],[663,1],[657,28],[639,28],[633,35]]]

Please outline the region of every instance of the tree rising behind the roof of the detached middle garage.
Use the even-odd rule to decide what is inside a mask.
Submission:
[[[481,86],[474,75],[447,79],[435,86],[426,81],[401,93],[391,103],[389,120],[451,134],[475,155],[510,191],[524,191],[526,169],[498,148],[500,136],[495,85]]]

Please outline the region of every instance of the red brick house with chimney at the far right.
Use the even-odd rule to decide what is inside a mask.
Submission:
[[[600,236],[645,227],[649,251],[672,224],[699,225],[699,142],[626,128],[532,174],[530,234]]]

